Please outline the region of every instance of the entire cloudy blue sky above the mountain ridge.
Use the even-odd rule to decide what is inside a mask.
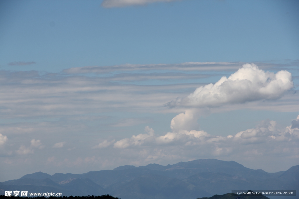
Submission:
[[[299,1],[0,1],[0,181],[299,164]]]

